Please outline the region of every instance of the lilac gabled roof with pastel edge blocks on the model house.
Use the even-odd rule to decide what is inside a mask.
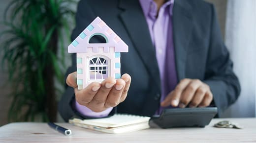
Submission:
[[[107,43],[89,43],[94,35],[103,36]],[[68,46],[68,52],[87,52],[88,47],[115,47],[115,52],[128,52],[128,45],[99,17],[96,17]]]

